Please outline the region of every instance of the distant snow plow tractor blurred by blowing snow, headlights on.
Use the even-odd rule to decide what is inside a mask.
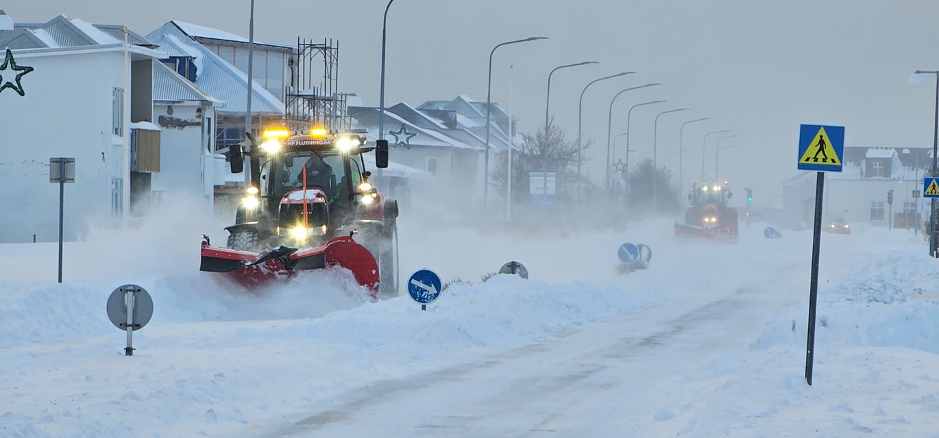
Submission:
[[[691,186],[685,222],[675,222],[676,237],[700,237],[737,243],[737,209],[728,205],[733,193],[728,182],[704,182]]]

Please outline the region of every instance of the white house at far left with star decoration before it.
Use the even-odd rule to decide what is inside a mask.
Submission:
[[[75,159],[65,239],[124,223],[148,204],[160,136],[131,124],[153,120],[153,63],[164,54],[122,29],[60,15],[0,33],[0,47],[10,49],[0,71],[0,242],[57,240],[54,157]]]

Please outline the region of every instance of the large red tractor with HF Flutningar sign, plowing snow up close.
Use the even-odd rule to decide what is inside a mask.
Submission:
[[[365,145],[364,132],[309,135],[286,129],[264,132],[251,149],[230,150],[240,173],[250,156],[251,185],[225,230],[225,247],[203,235],[201,271],[221,273],[249,291],[300,272],[333,266],[351,271],[376,297],[397,295],[398,205],[369,182],[363,154],[376,151],[388,166],[388,143]]]

